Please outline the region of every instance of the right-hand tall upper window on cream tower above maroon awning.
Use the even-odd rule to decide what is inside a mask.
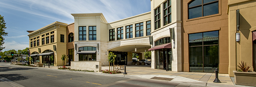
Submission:
[[[172,22],[172,3],[171,0],[167,0],[163,3],[163,25]]]

